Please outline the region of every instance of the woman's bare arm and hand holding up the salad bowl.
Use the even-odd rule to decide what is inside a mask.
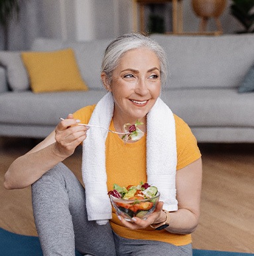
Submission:
[[[200,217],[200,194],[202,188],[202,160],[201,158],[192,164],[176,172],[176,198],[178,211],[170,212],[170,224],[166,230],[170,233],[192,233]],[[157,205],[155,212],[146,220],[135,218],[134,222],[121,222],[130,229],[141,229],[153,223],[166,220],[166,214],[161,211],[163,203]]]

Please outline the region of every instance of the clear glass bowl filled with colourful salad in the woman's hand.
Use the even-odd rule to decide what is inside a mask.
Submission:
[[[127,187],[114,184],[108,195],[117,213],[127,220],[135,216],[146,218],[153,213],[160,197],[157,187],[143,182],[137,186]]]

